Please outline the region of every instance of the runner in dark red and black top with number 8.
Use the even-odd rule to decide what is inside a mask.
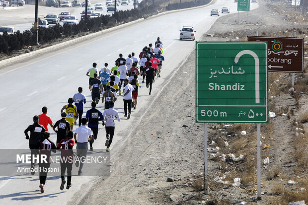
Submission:
[[[64,189],[65,185],[65,171],[68,168],[68,184],[66,186],[66,189],[70,189],[72,186],[71,181],[72,181],[72,166],[74,162],[74,152],[73,152],[73,146],[75,144],[75,141],[72,139],[74,136],[74,133],[72,131],[68,132],[68,138],[62,139],[60,143],[58,144],[57,148],[62,148],[61,149],[61,161],[60,161],[60,166],[61,166],[61,186],[60,190]]]

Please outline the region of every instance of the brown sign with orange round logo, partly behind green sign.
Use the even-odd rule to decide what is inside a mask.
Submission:
[[[247,36],[247,41],[267,41],[268,71],[303,72],[304,38]]]

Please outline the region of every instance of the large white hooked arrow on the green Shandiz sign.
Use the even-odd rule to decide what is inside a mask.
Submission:
[[[238,63],[239,58],[242,55],[249,54],[254,58],[255,62],[255,94],[256,94],[256,103],[260,103],[260,88],[259,88],[259,83],[260,83],[260,73],[259,73],[259,58],[256,53],[250,50],[243,50],[240,51],[234,59],[235,64]]]

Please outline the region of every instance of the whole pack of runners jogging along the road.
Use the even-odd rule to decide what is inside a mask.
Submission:
[[[55,124],[47,115],[48,108],[42,108],[41,115],[33,117],[33,124],[25,131],[26,139],[29,140],[29,148],[31,150],[31,174],[35,174],[35,161],[32,159],[36,155],[46,155],[47,161],[38,161],[40,167],[40,191],[44,193],[44,186],[46,183],[47,172],[50,167],[49,157],[51,151],[61,151],[61,186],[63,190],[66,184],[65,172],[67,171],[67,189],[72,186],[72,166],[74,157],[76,156],[75,165],[79,167],[78,175],[82,174],[83,163],[80,160],[87,155],[88,142],[90,150],[93,150],[94,139],[97,139],[99,121],[105,126],[106,131],[106,151],[110,151],[110,145],[115,131],[114,120],[120,122],[119,113],[114,110],[114,103],[118,100],[118,96],[123,94],[124,102],[124,117],[130,119],[131,109],[136,109],[139,75],[142,76],[142,83],[150,88],[149,95],[151,95],[152,84],[155,82],[155,76],[161,76],[161,67],[164,57],[162,56],[162,42],[159,37],[153,44],[145,46],[139,54],[139,59],[135,57],[135,53],[129,54],[128,58],[123,58],[120,54],[115,61],[115,66],[111,69],[105,63],[105,67],[99,72],[97,64],[93,63],[92,68],[88,69],[86,75],[89,76],[89,90],[91,91],[91,109],[86,111],[85,117],[83,115],[83,104],[86,103],[85,95],[82,94],[82,87],[78,87],[78,92],[68,99],[68,104],[61,109],[61,119]],[[140,67],[139,67],[139,66]],[[101,97],[102,95],[102,97]],[[104,112],[102,113],[96,109],[97,104],[104,103]],[[73,104],[74,103],[74,104]],[[78,122],[77,122],[78,119]],[[78,127],[73,133],[74,125]],[[56,144],[49,139],[48,125],[53,128],[57,134]],[[28,135],[30,132],[30,136]],[[74,139],[73,139],[74,138]],[[76,145],[77,154],[73,151],[73,146]],[[65,158],[65,160],[63,160]],[[43,168],[43,169],[42,169]],[[42,171],[41,171],[42,170]],[[45,170],[45,171],[44,171]]]

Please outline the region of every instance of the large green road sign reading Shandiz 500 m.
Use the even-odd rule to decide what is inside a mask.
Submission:
[[[267,123],[267,42],[196,42],[196,122]]]

